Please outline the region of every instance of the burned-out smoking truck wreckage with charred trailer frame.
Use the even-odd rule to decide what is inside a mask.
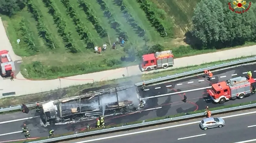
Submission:
[[[135,112],[141,110],[145,103],[140,100],[137,88],[123,86],[58,103],[49,101],[42,105],[39,112],[44,125],[58,125],[70,121],[88,121],[100,115],[112,116]]]

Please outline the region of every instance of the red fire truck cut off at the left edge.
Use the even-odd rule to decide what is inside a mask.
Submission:
[[[0,51],[0,64],[2,76],[10,76],[12,72],[15,72],[14,62],[12,61],[8,52],[8,50]]]

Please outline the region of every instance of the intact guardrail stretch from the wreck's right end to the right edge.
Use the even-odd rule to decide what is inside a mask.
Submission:
[[[256,56],[251,57],[251,58],[245,58],[245,59],[242,59],[242,60],[239,59],[239,60],[236,60],[236,61],[223,63],[223,64],[220,64],[220,65],[214,65],[214,66],[211,66],[211,67],[199,68],[197,70],[191,70],[191,71],[183,72],[183,73],[180,73],[180,74],[167,75],[165,77],[159,77],[159,78],[155,78],[155,79],[141,81],[141,82],[136,83],[135,85],[136,86],[141,86],[143,83],[145,83],[147,85],[147,84],[151,84],[151,83],[155,83],[155,82],[170,80],[172,78],[178,78],[178,77],[182,77],[182,76],[188,76],[188,75],[193,75],[193,74],[196,74],[196,73],[201,73],[204,70],[212,70],[212,69],[217,69],[217,68],[227,67],[227,66],[230,66],[230,65],[236,65],[236,64],[241,64],[241,63],[245,63],[245,62],[252,62],[252,61],[256,61]]]

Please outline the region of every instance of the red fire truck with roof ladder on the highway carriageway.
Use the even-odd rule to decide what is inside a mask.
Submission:
[[[207,93],[214,102],[223,104],[229,99],[235,100],[236,98],[242,99],[246,96],[250,96],[253,89],[255,89],[252,85],[255,82],[253,78],[231,78],[227,81],[212,84],[212,89],[208,89]]]

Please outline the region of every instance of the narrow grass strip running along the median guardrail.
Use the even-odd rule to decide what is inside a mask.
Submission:
[[[239,104],[233,104],[233,105],[226,105],[226,106],[221,106],[221,107],[215,107],[215,108],[210,108],[210,110],[214,111],[214,110],[220,110],[220,109],[224,109],[224,108],[232,108],[232,107],[249,105],[249,104],[254,104],[254,103],[256,103],[256,101],[251,101],[251,102],[246,102],[246,103],[239,103]],[[156,120],[162,120],[162,119],[174,118],[174,117],[180,117],[180,116],[184,116],[184,115],[192,115],[192,114],[197,114],[197,113],[203,113],[204,111],[205,110],[198,110],[198,111],[192,111],[192,112],[188,112],[188,113],[180,113],[180,114],[176,114],[176,115],[169,115],[169,116],[164,116],[164,117],[157,117],[157,118],[152,118],[152,119],[146,119],[144,122],[156,121]],[[223,113],[221,113],[221,114],[223,114]],[[217,115],[217,114],[213,114],[213,115]],[[171,121],[171,122],[176,122],[176,121]],[[115,127],[121,127],[121,126],[124,126],[124,125],[133,125],[133,124],[138,124],[138,123],[142,123],[142,121],[134,121],[134,122],[129,122],[129,123],[125,123],[125,124],[109,125],[109,126],[106,126],[106,128],[115,128]],[[92,128],[90,130],[79,131],[78,133],[84,133],[84,132],[89,132],[89,131],[96,131],[96,130],[101,130],[101,129],[102,128]],[[61,137],[61,136],[72,135],[72,134],[74,134],[74,132],[69,132],[69,133],[66,133],[66,134],[63,134],[63,135],[56,135],[55,137]],[[38,140],[43,140],[43,139],[47,139],[47,137],[39,138],[39,139],[35,139],[35,140],[30,140],[30,141],[38,141]],[[28,142],[30,142],[30,141],[28,141]],[[12,143],[23,143],[23,142],[24,141],[15,141],[15,142],[12,142]]]

